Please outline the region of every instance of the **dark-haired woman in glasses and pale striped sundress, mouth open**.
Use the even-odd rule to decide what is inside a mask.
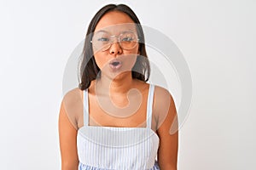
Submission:
[[[62,170],[177,169],[176,108],[165,88],[147,83],[143,42],[124,4],[109,4],[90,21],[79,88],[61,102]]]

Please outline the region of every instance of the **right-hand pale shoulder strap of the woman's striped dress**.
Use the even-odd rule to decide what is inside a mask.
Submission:
[[[147,128],[151,128],[153,99],[154,99],[154,84],[149,84],[148,104],[147,104]]]

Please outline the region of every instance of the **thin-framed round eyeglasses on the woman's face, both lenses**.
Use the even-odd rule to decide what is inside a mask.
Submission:
[[[139,41],[137,34],[133,31],[122,32],[119,36],[110,35],[108,31],[98,31],[90,42],[96,51],[106,51],[111,47],[115,37],[118,39],[119,46],[123,49],[135,48]]]

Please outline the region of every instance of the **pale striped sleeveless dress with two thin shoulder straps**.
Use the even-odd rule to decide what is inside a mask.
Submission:
[[[79,170],[159,170],[160,139],[151,129],[154,85],[149,84],[147,127],[89,126],[88,88],[84,90],[84,126],[77,135]]]

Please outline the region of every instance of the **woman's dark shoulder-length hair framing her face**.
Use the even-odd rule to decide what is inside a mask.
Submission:
[[[99,67],[96,65],[96,60],[93,55],[92,45],[90,40],[92,38],[93,32],[95,31],[96,25],[99,20],[102,19],[104,14],[107,14],[110,11],[119,11],[127,14],[131,20],[134,21],[137,28],[137,34],[139,38],[139,52],[143,57],[137,57],[137,61],[133,66],[131,71],[132,78],[137,78],[142,80],[143,82],[147,82],[150,75],[150,65],[148,61],[148,55],[146,53],[146,48],[144,44],[144,34],[143,28],[140,25],[140,21],[137,19],[136,14],[131,10],[130,7],[125,4],[108,4],[102,7],[90,21],[90,25],[88,26],[88,30],[85,37],[84,48],[81,54],[80,62],[79,62],[79,78],[81,82],[79,82],[79,88],[84,90],[90,87],[90,82],[95,80],[97,76],[101,76],[101,72]],[[133,70],[136,71],[133,71]],[[145,75],[147,74],[147,77]]]

